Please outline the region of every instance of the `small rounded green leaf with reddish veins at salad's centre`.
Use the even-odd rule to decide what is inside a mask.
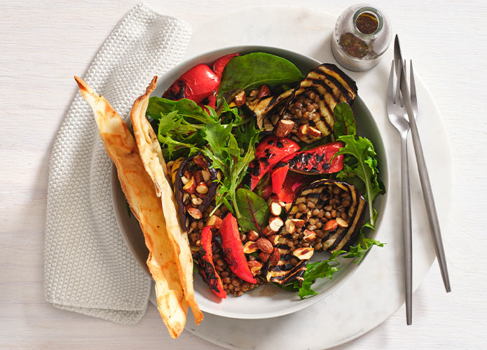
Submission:
[[[269,207],[267,202],[251,190],[239,188],[237,190],[237,205],[242,217],[238,225],[244,232],[254,230],[261,232],[261,228],[269,220]]]

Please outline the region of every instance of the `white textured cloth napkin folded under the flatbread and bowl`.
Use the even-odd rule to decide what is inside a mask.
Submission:
[[[190,35],[185,22],[139,4],[107,38],[84,80],[127,116],[151,78],[183,58]],[[111,164],[90,106],[76,94],[50,158],[45,293],[60,309],[133,324],[145,313],[151,279],[118,230]]]

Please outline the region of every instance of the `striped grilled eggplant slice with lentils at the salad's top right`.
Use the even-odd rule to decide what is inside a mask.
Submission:
[[[335,64],[322,64],[308,73],[294,89],[277,97],[265,97],[247,104],[257,125],[276,132],[280,120],[292,120],[289,137],[311,144],[333,131],[333,111],[339,102],[352,102],[357,85]]]

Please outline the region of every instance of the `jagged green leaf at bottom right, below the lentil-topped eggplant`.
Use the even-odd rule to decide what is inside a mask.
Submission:
[[[304,272],[303,283],[301,283],[301,286],[298,281],[294,280],[291,283],[287,283],[283,288],[299,292],[298,295],[301,299],[310,295],[317,295],[318,293],[311,288],[311,285],[315,283],[317,279],[324,279],[325,277],[328,277],[329,279],[332,278],[333,274],[338,271],[336,266],[338,266],[340,262],[338,262],[337,257],[341,253],[345,253],[345,251],[335,251],[327,260],[308,264],[306,272]]]

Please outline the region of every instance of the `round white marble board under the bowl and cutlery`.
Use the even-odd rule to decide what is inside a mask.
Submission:
[[[209,48],[239,43],[273,45],[301,52],[320,62],[335,62],[329,39],[338,15],[330,15],[316,8],[293,7],[245,8],[238,13],[225,13],[219,18],[209,18],[208,22],[193,28],[187,57],[198,55]],[[403,49],[407,55],[406,48]],[[385,160],[390,170],[387,179],[389,191],[387,207],[382,213],[383,221],[376,238],[387,242],[387,245],[384,248],[374,247],[357,273],[326,298],[306,309],[264,320],[238,320],[205,314],[205,320],[198,327],[194,325],[192,316],[189,316],[186,329],[228,349],[328,349],[368,332],[404,304],[399,135],[385,113],[391,60],[390,49],[383,62],[371,71],[348,72],[357,81],[359,94],[376,118],[385,144]],[[420,72],[415,73],[419,102],[418,129],[445,238],[448,235],[452,201],[451,152],[434,99],[420,79]],[[413,154],[410,139],[413,290],[416,290],[434,261],[434,248]],[[414,319],[413,315],[413,323]]]

